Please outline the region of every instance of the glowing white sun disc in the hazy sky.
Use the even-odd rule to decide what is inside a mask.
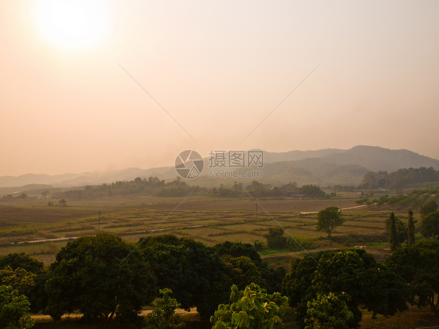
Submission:
[[[97,46],[108,32],[109,14],[98,0],[41,0],[34,13],[40,35],[66,50]]]

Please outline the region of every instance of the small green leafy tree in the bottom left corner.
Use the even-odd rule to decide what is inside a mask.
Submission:
[[[35,320],[29,316],[29,299],[11,286],[0,286],[0,328],[30,329]]]

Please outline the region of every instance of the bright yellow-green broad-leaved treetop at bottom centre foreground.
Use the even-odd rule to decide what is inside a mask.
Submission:
[[[264,329],[282,324],[287,297],[279,292],[266,294],[254,283],[243,291],[238,290],[236,285],[231,290],[229,304],[218,305],[218,310],[210,317],[212,329]]]

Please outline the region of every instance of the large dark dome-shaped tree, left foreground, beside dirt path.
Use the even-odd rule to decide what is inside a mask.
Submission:
[[[155,277],[134,245],[101,233],[67,243],[50,266],[45,313],[60,319],[79,309],[106,326],[114,315],[133,316],[155,296]]]

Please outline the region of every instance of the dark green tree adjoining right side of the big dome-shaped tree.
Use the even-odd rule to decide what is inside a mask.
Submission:
[[[188,310],[196,306],[208,318],[228,298],[233,284],[220,257],[201,242],[174,235],[149,236],[139,241],[145,260],[151,265],[160,289],[169,288]]]

